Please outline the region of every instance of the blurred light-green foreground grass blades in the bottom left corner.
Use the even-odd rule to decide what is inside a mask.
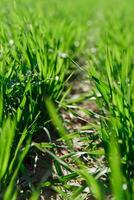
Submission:
[[[18,173],[30,148],[31,135],[27,130],[18,133],[16,118],[3,117],[3,100],[0,98],[0,198],[16,199]],[[18,114],[18,112],[17,112]],[[16,140],[17,134],[20,134]],[[27,140],[26,140],[27,138]]]

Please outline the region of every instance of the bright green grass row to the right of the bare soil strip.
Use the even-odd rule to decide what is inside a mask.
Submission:
[[[97,102],[102,112],[102,117],[100,117],[100,137],[103,141],[106,155],[109,155],[109,146],[114,148],[114,142],[110,142],[111,138],[115,138],[118,143],[123,173],[121,177],[122,179],[125,177],[125,184],[130,193],[130,196],[124,197],[124,199],[130,199],[133,193],[134,168],[132,156],[134,153],[134,69],[133,46],[130,45],[130,41],[133,43],[133,36],[129,32],[127,39],[124,40],[124,33],[128,30],[131,20],[129,20],[129,15],[125,15],[123,22],[126,24],[127,21],[128,23],[123,28],[123,22],[119,17],[121,13],[124,13],[124,10],[120,11],[120,14],[115,14],[116,17],[118,16],[117,18],[110,15],[113,29],[116,29],[116,35],[113,34],[112,30],[110,31],[106,28],[106,37],[101,40],[101,44],[103,42],[101,48],[104,47],[105,49],[104,60],[101,63],[98,62],[98,64],[93,61],[94,64],[90,72],[96,87]],[[115,21],[114,17],[117,21]],[[95,64],[96,67],[94,67]],[[114,167],[114,164],[112,166]],[[115,171],[113,169],[113,174]],[[120,198],[117,196],[117,199]]]

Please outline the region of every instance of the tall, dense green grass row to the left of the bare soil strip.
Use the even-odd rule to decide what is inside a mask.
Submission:
[[[32,137],[46,130],[46,123],[51,120],[44,100],[49,97],[56,103],[64,97],[65,83],[72,74],[68,57],[76,58],[85,43],[81,40],[83,20],[72,22],[71,2],[66,3],[70,18],[60,3],[55,0],[45,4],[14,1],[11,5],[4,0],[0,3],[0,143],[4,144],[0,159],[5,163],[1,169],[4,199],[17,198],[17,193],[12,194],[18,174],[24,173],[23,160],[32,149]],[[62,6],[56,11],[54,4]],[[81,3],[76,5],[80,7]],[[47,128],[51,129],[50,124]]]

